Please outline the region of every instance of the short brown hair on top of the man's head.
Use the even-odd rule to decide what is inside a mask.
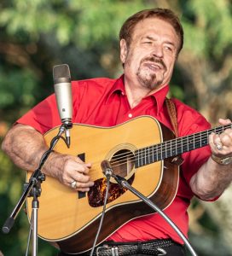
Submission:
[[[179,18],[177,15],[175,15],[171,9],[144,9],[135,15],[132,15],[127,20],[125,20],[125,23],[121,27],[121,30],[119,32],[119,39],[125,39],[125,42],[128,46],[131,44],[131,38],[132,38],[132,32],[136,26],[136,24],[141,21],[148,18],[159,18],[161,20],[165,20],[168,23],[173,26],[175,31],[177,32],[177,35],[179,37],[180,45],[177,49],[177,54],[181,51],[183,48],[183,26],[180,23]]]

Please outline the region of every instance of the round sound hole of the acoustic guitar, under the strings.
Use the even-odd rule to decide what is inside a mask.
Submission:
[[[110,164],[115,175],[126,177],[135,166],[135,156],[128,149],[121,149],[113,154]]]

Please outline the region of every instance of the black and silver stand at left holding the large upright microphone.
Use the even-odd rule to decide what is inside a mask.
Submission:
[[[49,154],[53,151],[53,148],[55,148],[56,143],[58,143],[59,139],[62,138],[65,143],[67,144],[67,140],[62,137],[62,133],[64,131],[67,131],[67,129],[70,129],[72,127],[72,123],[63,123],[60,128],[57,136],[55,136],[51,142],[49,150],[47,150],[39,163],[38,168],[32,173],[32,176],[29,179],[28,183],[24,183],[24,189],[23,194],[20,197],[20,200],[17,202],[16,206],[14,207],[14,210],[11,212],[9,218],[5,221],[3,224],[3,233],[8,234],[11,228],[14,225],[14,219],[17,217],[18,213],[20,212],[21,207],[23,206],[24,202],[26,201],[27,196],[32,196],[32,219],[31,219],[31,225],[32,225],[32,256],[37,256],[38,254],[38,196],[41,195],[42,189],[41,189],[41,183],[45,180],[44,173],[41,172],[41,169],[43,168],[46,160],[49,158]],[[68,144],[67,144],[68,147]]]

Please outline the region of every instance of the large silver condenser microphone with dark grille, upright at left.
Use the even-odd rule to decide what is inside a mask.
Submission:
[[[67,64],[56,65],[53,68],[55,98],[61,123],[65,125],[68,148],[70,146],[69,129],[72,128],[73,96],[71,90],[71,75]]]

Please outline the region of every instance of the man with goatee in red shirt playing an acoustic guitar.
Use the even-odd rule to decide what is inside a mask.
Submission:
[[[73,122],[113,126],[150,115],[174,130],[165,97],[182,47],[183,27],[171,10],[149,9],[132,15],[120,31],[124,75],[116,80],[73,82]],[[177,99],[172,102],[177,111],[174,118],[179,137],[209,129],[210,125],[200,113]],[[219,122],[230,124],[229,119],[219,119]],[[3,150],[17,166],[33,170],[48,149],[44,144],[44,132],[60,123],[55,96],[49,96],[16,122],[4,139]],[[219,135],[212,133],[208,147],[189,151],[182,157],[177,195],[165,213],[187,235],[187,208],[191,198],[196,195],[204,201],[215,200],[232,180],[232,130],[227,129]],[[94,180],[90,180],[91,163],[84,163],[73,155],[53,152],[43,172],[77,191],[89,191],[94,185]],[[119,255],[185,255],[183,241],[158,214],[131,220],[107,237],[105,244],[111,244],[108,241],[119,248]],[[122,243],[123,249],[119,246]],[[136,244],[136,253],[127,250],[131,244]],[[146,245],[148,250],[144,252],[141,248]],[[115,250],[106,251],[101,247],[98,252],[99,255],[113,255]]]

